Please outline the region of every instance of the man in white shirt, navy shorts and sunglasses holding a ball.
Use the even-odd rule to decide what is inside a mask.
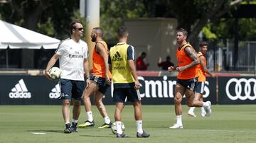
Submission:
[[[60,99],[63,102],[64,133],[78,132],[77,124],[80,115],[80,100],[85,88],[85,78],[89,78],[88,47],[85,41],[80,40],[84,33],[79,20],[70,23],[71,37],[60,42],[58,49],[46,67],[46,77],[50,79],[49,69],[59,59],[60,62]],[[86,80],[89,86],[90,80]],[[73,120],[70,125],[70,101],[73,101]]]

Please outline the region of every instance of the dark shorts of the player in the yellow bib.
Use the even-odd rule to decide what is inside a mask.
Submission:
[[[136,90],[134,88],[114,88],[113,101],[115,103],[124,103],[125,98],[127,98],[127,101],[130,101],[132,103],[142,100],[139,90]]]

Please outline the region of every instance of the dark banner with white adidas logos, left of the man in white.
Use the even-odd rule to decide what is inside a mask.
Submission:
[[[45,76],[0,76],[1,105],[61,104],[58,81]]]

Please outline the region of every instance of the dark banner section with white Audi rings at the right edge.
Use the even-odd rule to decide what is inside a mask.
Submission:
[[[255,104],[256,79],[247,77],[219,77],[218,79],[219,104]]]

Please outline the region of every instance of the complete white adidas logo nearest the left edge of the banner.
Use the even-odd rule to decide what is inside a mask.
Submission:
[[[26,85],[23,79],[18,81],[18,84],[15,85],[14,88],[11,89],[9,93],[10,98],[31,98],[31,93],[28,92]]]

